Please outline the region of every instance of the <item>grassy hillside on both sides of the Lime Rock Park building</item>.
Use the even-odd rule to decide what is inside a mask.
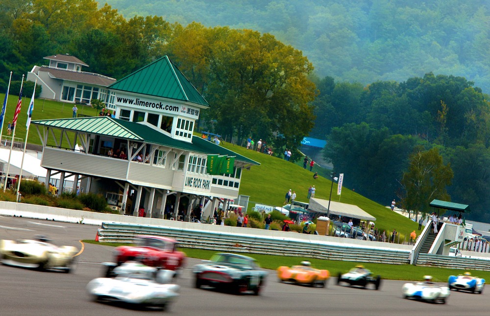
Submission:
[[[3,101],[4,94],[0,94]],[[18,97],[9,95],[7,103],[7,111],[3,123],[4,135],[6,135],[6,127],[8,121],[14,116],[15,107]],[[16,138],[25,137],[25,121],[27,120],[27,107],[30,102],[30,97],[23,97],[22,110],[17,121]],[[2,102],[3,104],[3,102]],[[36,99],[34,102],[34,112],[32,119],[49,119],[72,117],[72,104],[62,103],[50,100]],[[79,105],[78,113],[85,115],[97,115],[98,111],[88,106]],[[3,136],[4,137],[4,136]],[[4,139],[2,137],[2,139]],[[41,144],[39,136],[35,129],[29,132],[29,143]],[[223,143],[222,143],[223,144]],[[246,150],[244,147],[234,146],[229,143],[224,144],[224,147],[233,150],[241,155],[260,162],[260,166],[253,166],[250,170],[244,170],[242,175],[242,183],[240,194],[249,195],[251,203],[249,209],[255,203],[281,206],[284,203],[284,196],[289,189],[296,191],[296,200],[308,202],[307,194],[310,185],[315,185],[315,197],[328,200],[330,194],[331,181],[323,177],[313,179],[313,173],[309,169],[305,170],[298,164],[288,162],[281,158],[271,157],[269,155],[257,153],[252,150]],[[314,167],[313,171],[319,171],[318,167]],[[322,174],[319,172],[319,174]],[[349,175],[345,175],[348,177]],[[336,183],[334,183],[334,191],[332,193],[332,201],[355,204],[363,210],[376,217],[376,226],[378,229],[385,229],[387,232],[395,228],[400,232],[400,238],[403,239],[405,234],[417,228],[417,224],[413,221],[392,212],[389,208],[375,203],[367,198],[349,190],[346,187],[342,189],[342,196],[338,196],[336,192]]]

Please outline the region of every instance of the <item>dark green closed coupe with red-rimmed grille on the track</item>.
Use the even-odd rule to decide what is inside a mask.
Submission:
[[[262,271],[255,259],[234,253],[216,253],[211,260],[194,266],[195,286],[202,286],[243,294],[252,291],[259,295],[266,282],[267,272]]]

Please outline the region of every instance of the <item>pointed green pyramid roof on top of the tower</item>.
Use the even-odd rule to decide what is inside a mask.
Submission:
[[[172,63],[168,56],[163,56],[116,81],[108,87],[112,90],[127,91],[188,101],[209,107],[208,102],[194,88],[191,82]]]

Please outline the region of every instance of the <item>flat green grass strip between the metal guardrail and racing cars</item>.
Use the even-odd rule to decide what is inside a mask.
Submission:
[[[127,246],[127,244],[121,243],[100,243],[95,240],[83,240],[84,243],[97,244],[105,246]],[[179,248],[180,251],[190,258],[209,259],[216,253],[215,250],[204,250],[196,248]],[[306,257],[290,257],[290,256],[274,256],[266,254],[247,254],[245,255],[255,258],[260,266],[265,269],[275,270],[280,266],[293,266],[299,264],[303,260],[308,260],[312,263],[312,266],[317,269],[326,269],[330,271],[330,275],[337,276],[339,272],[345,272],[354,267],[359,262],[351,261],[338,261],[338,260],[324,260]],[[490,271],[477,271],[477,270],[457,270],[457,269],[444,269],[437,267],[421,267],[412,265],[390,265],[381,263],[361,263],[366,268],[371,270],[374,274],[379,274],[383,279],[389,280],[422,280],[424,275],[432,275],[435,282],[446,282],[449,275],[462,274],[465,271],[470,271],[472,275],[482,277],[485,279],[490,278]]]

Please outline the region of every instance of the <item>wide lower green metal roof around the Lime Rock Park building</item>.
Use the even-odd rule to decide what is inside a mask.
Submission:
[[[60,118],[49,120],[36,120],[32,124],[48,126],[70,130],[73,132],[83,132],[98,135],[114,136],[118,138],[146,141],[151,144],[191,151],[204,155],[228,155],[235,156],[236,161],[259,165],[257,161],[239,155],[229,149],[216,145],[215,143],[193,136],[192,143],[173,139],[155,129],[141,124],[128,122],[109,116],[79,117],[79,118]]]

